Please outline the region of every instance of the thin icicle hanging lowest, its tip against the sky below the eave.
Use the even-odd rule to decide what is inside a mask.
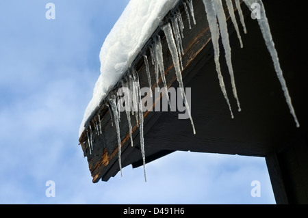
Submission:
[[[142,163],[143,163],[143,172],[144,172],[144,180],[146,182],[146,170],[145,170],[145,152],[144,152],[144,135],[143,135],[143,109],[142,109],[142,101],[141,101],[141,90],[140,90],[140,84],[139,84],[139,77],[136,70],[133,70],[133,77],[135,79],[135,85],[136,89],[138,90],[137,96],[138,96],[138,108],[139,108],[139,118],[140,118],[140,125],[139,125],[139,134],[140,134],[140,148],[141,148],[141,154],[142,154]]]

